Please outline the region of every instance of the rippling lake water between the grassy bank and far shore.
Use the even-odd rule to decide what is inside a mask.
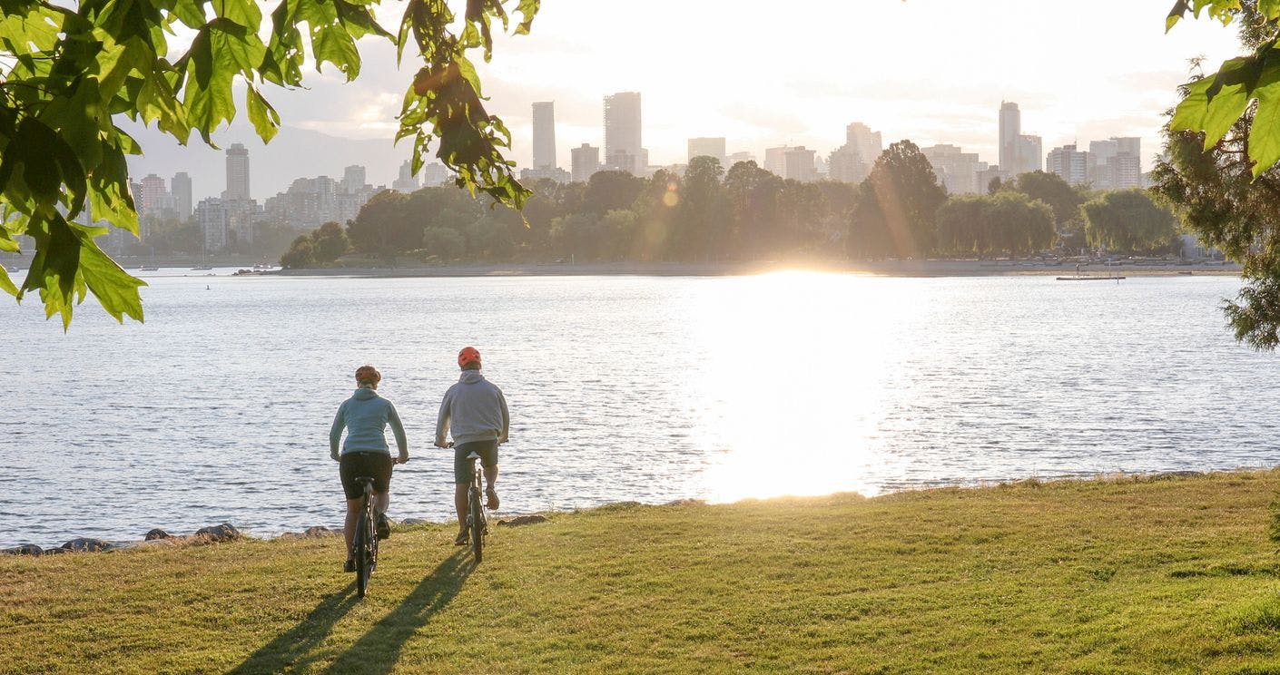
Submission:
[[[0,303],[0,546],[340,523],[328,430],[366,362],[413,455],[392,515],[447,519],[463,344],[511,403],[508,513],[1280,463],[1230,277],[150,281],[145,325]]]

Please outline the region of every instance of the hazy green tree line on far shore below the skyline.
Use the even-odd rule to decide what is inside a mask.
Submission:
[[[1174,254],[1178,219],[1143,190],[1093,192],[1034,171],[947,196],[910,141],[860,184],[783,180],[695,157],[677,175],[538,180],[522,212],[452,187],[384,192],[346,225],[297,237],[289,268],[371,261],[753,262],[795,257],[997,258],[1056,251]]]

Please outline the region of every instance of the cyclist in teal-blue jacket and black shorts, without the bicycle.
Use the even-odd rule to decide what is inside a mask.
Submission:
[[[387,522],[387,506],[390,502],[392,464],[408,462],[408,442],[404,438],[404,426],[392,401],[378,395],[378,384],[383,376],[372,366],[356,369],[356,392],[338,407],[329,430],[329,456],[338,462],[342,477],[342,490],[347,495],[347,524],[343,537],[347,539],[347,571],[355,571],[351,559],[351,541],[360,520],[360,506],[364,492],[356,478],[367,476],[374,479],[374,511],[378,514],[378,538],[390,537],[390,523]],[[385,430],[390,424],[396,435],[399,456],[392,459],[387,446]],[[342,430],[347,430],[347,440],[338,451]]]

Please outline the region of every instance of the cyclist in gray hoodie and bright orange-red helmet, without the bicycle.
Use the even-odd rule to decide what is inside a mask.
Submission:
[[[458,511],[458,536],[453,543],[467,543],[467,486],[471,483],[467,455],[480,455],[484,467],[486,506],[498,508],[498,445],[507,442],[511,415],[502,390],[480,373],[480,352],[465,346],[458,352],[462,376],[444,392],[440,414],[435,419],[436,447],[453,447],[453,506]],[[445,442],[449,432],[453,442]]]

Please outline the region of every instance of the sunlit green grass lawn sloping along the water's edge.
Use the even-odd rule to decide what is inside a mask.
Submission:
[[[1280,472],[0,557],[0,672],[1280,672]],[[442,495],[447,499],[447,495]]]

